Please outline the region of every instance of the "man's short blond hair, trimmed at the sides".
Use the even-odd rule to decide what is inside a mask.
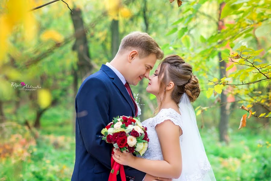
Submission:
[[[138,51],[139,58],[145,58],[150,54],[155,54],[159,60],[164,57],[164,52],[148,33],[134,31],[126,35],[121,40],[118,54],[122,55],[125,51],[133,49]]]

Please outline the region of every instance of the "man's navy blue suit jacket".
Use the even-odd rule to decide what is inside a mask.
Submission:
[[[72,181],[108,181],[112,145],[99,136],[116,116],[135,116],[134,104],[121,80],[106,65],[80,86],[76,99],[76,148]],[[146,173],[124,166],[127,180],[142,181]],[[118,181],[120,176],[118,175]]]

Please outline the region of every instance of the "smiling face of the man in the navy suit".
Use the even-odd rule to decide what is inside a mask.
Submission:
[[[137,85],[144,77],[149,78],[150,70],[156,63],[156,55],[150,54],[142,59],[139,58],[138,54],[133,57],[129,64],[129,72],[126,77],[128,84]]]

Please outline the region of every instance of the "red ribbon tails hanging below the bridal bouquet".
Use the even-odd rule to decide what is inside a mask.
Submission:
[[[112,148],[112,152],[111,154],[114,154],[114,151],[113,151],[114,148]],[[108,178],[108,181],[117,181],[117,173],[121,174],[121,181],[126,181],[126,178],[125,178],[125,172],[124,172],[124,167],[123,165],[117,163],[113,157],[111,156],[111,172],[109,174],[109,178]],[[112,173],[113,172],[113,173]]]

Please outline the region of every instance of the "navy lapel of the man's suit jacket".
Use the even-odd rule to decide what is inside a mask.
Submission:
[[[131,109],[133,110],[133,116],[135,116],[135,108],[134,108],[134,103],[126,89],[126,87],[123,85],[121,80],[118,78],[118,76],[115,74],[115,72],[109,68],[106,65],[102,65],[101,70],[103,70],[110,78],[113,78],[113,83],[116,85],[116,87],[120,90],[121,94],[123,97],[127,100],[129,105],[131,106]]]

